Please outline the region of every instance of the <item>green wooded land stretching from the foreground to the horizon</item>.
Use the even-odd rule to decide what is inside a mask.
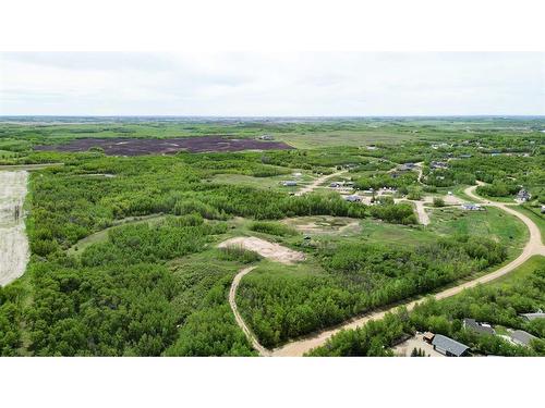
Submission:
[[[463,198],[463,188],[479,181],[486,184],[477,194],[514,205],[524,188],[531,199],[519,210],[543,228],[541,123],[521,119],[532,129],[521,134],[468,121],[0,123],[0,171],[51,164],[29,168],[29,261],[22,277],[0,287],[0,355],[257,356],[228,300],[234,276],[247,265],[256,268],[242,279],[237,305],[259,343],[272,349],[506,264],[521,250],[517,225],[506,223],[512,228],[505,233],[497,222],[480,221],[472,228],[472,220],[487,213],[451,211],[447,191]],[[96,148],[34,150],[78,138],[213,134],[267,134],[294,148],[128,157]],[[437,161],[448,165],[438,169]],[[422,177],[416,169],[397,170],[408,163],[419,163]],[[342,175],[327,178],[336,172]],[[251,183],[227,182],[230,176]],[[291,180],[296,187],[282,185]],[[316,180],[323,182],[314,190],[298,194]],[[350,201],[329,188],[331,181],[350,182],[355,195],[392,193],[373,193],[371,203]],[[411,202],[425,196],[429,225]],[[322,225],[319,219],[331,221]],[[283,264],[243,248],[218,248],[233,237],[257,237],[305,260]],[[529,324],[518,314],[545,308],[544,273],[541,268],[528,279],[428,299],[341,332],[311,355],[390,356],[397,341],[426,330],[475,354],[543,355],[543,321]],[[524,329],[540,341],[523,348],[475,337],[460,327],[468,317]]]

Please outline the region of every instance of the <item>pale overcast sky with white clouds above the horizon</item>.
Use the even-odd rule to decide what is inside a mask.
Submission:
[[[545,53],[0,53],[0,115],[544,115]]]

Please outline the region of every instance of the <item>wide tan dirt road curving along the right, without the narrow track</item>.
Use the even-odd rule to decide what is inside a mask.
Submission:
[[[475,199],[475,201],[482,201],[482,199],[477,196],[474,195],[474,189],[476,186],[469,187],[465,189],[465,194],[469,197],[472,197]],[[497,269],[496,271],[488,273],[486,275],[480,276],[477,279],[474,279],[473,281],[462,283],[458,286],[450,287],[448,289],[445,289],[443,292],[439,292],[435,295],[433,295],[436,299],[444,299],[453,295],[459,294],[463,289],[474,287],[479,284],[487,283],[491,282],[495,279],[498,279],[512,270],[517,269],[520,267],[522,263],[524,263],[530,257],[533,255],[542,255],[545,256],[545,246],[542,244],[541,240],[541,233],[540,228],[537,225],[534,224],[534,222],[525,217],[522,213],[519,213],[512,209],[510,209],[508,206],[500,203],[500,202],[489,202],[487,201],[486,205],[497,207],[502,209],[504,211],[519,218],[529,228],[530,231],[530,239],[528,244],[525,245],[522,254],[514,259],[513,261],[509,262],[508,264]],[[408,310],[411,310],[414,308],[415,305],[419,304],[421,300],[413,300],[411,302],[408,302],[403,305]],[[395,311],[397,307],[393,308],[387,308],[383,310],[376,310],[372,313],[365,314],[360,318],[355,318],[347,323],[343,323],[337,327],[326,330],[319,333],[316,333],[314,335],[303,337],[299,341],[294,341],[291,343],[286,344],[282,347],[276,348],[274,350],[267,350],[265,349],[265,353],[262,354],[262,356],[278,356],[278,357],[298,357],[298,356],[303,356],[305,353],[312,350],[313,348],[316,348],[318,346],[324,345],[327,339],[329,339],[332,335],[339,333],[341,330],[350,330],[350,329],[356,329],[362,326],[363,324],[367,323],[370,320],[378,320],[383,319],[387,312]],[[259,345],[259,347],[263,348],[263,346]],[[261,353],[261,351],[259,351]]]

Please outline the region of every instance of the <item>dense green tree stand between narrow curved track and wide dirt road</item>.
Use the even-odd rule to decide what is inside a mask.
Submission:
[[[486,238],[439,239],[415,250],[366,244],[318,254],[315,273],[276,273],[261,267],[244,277],[238,304],[263,345],[278,346],[355,314],[465,277],[506,259]]]

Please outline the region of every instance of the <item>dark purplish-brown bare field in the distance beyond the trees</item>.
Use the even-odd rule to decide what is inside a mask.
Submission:
[[[221,136],[183,137],[171,139],[130,139],[130,138],[83,138],[65,145],[36,146],[35,150],[66,152],[87,151],[93,147],[104,149],[108,156],[175,154],[186,150],[192,153],[205,151],[241,150],[286,150],[293,149],[283,141],[262,141],[256,139],[228,139]]]

